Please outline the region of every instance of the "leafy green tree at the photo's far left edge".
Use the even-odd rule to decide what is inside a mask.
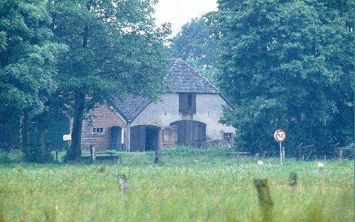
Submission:
[[[0,2],[0,122],[23,123],[23,150],[38,154],[31,160],[47,155],[43,149],[30,148],[29,124],[55,89],[56,57],[66,50],[53,42],[50,23],[44,1]]]

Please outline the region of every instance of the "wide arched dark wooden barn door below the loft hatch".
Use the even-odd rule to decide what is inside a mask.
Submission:
[[[200,148],[206,141],[206,124],[199,121],[184,120],[170,123],[178,126],[178,145],[191,145]]]

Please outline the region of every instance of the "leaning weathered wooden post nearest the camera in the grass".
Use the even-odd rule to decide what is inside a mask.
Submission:
[[[259,206],[263,221],[273,221],[273,201],[268,187],[268,179],[254,179],[254,186],[258,191]]]

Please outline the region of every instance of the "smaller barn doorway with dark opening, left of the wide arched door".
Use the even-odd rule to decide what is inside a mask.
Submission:
[[[158,149],[159,131],[158,126],[139,125],[131,127],[131,151]]]

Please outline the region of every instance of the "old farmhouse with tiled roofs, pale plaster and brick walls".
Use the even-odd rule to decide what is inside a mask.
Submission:
[[[181,59],[173,59],[168,88],[159,101],[143,96],[113,96],[82,124],[82,149],[144,151],[175,145],[200,147],[212,139],[231,139],[234,128],[219,123],[230,106],[217,87]]]

